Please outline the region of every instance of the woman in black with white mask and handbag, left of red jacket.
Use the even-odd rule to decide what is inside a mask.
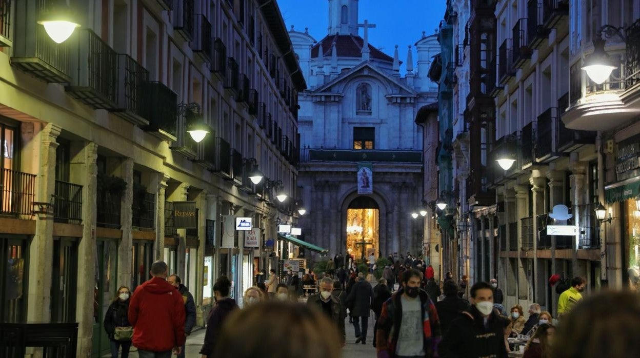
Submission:
[[[107,313],[104,314],[104,330],[109,337],[111,345],[111,358],[118,358],[118,350],[122,347],[122,358],[129,357],[129,349],[131,348],[131,336],[123,334],[122,330],[131,332],[131,323],[129,323],[129,297],[131,290],[127,286],[118,288],[118,295],[113,299]],[[116,334],[116,327],[118,333]]]

